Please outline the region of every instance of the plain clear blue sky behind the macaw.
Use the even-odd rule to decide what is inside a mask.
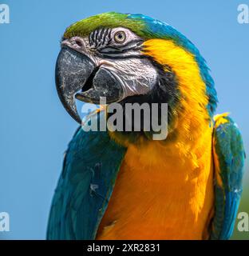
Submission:
[[[0,233],[0,239],[45,238],[62,155],[77,128],[57,98],[54,66],[61,35],[81,18],[106,11],[142,13],[190,38],[211,68],[217,112],[231,112],[249,153],[249,24],[237,22],[238,5],[249,0],[0,3],[10,6],[10,24],[0,24],[0,212],[10,214],[10,232]]]

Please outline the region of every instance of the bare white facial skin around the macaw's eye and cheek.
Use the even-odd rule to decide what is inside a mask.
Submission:
[[[125,39],[122,43],[117,42],[117,40],[115,41],[115,36],[120,32],[125,34]],[[105,38],[100,38],[103,34],[109,36],[108,44]],[[101,69],[109,70],[121,83],[124,90],[123,98],[126,98],[133,95],[147,94],[152,90],[157,79],[156,68],[148,58],[141,56],[140,50],[133,48],[133,42],[142,42],[142,39],[131,30],[117,27],[112,30],[102,29],[93,31],[93,34],[85,38],[73,37],[66,39],[61,44],[87,55]],[[99,53],[96,48],[97,46],[103,52]],[[105,47],[108,48],[106,51]],[[113,54],[108,51],[110,47],[114,50],[121,50],[123,48],[126,50],[121,50],[120,53],[117,51],[117,53]],[[130,48],[127,49],[127,47]],[[101,57],[101,54],[103,57]]]

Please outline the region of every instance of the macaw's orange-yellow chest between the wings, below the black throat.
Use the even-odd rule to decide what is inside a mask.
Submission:
[[[211,133],[194,153],[128,146],[97,239],[202,239],[212,214]],[[193,152],[193,151],[192,151]]]

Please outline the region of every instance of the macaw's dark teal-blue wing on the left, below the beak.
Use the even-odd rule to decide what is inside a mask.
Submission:
[[[53,196],[48,239],[95,238],[125,152],[107,132],[77,130]]]

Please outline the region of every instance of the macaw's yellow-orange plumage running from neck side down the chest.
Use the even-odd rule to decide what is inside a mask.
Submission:
[[[144,54],[175,72],[182,107],[165,142],[110,134],[128,150],[97,239],[205,239],[214,202],[205,84],[194,56],[169,40],[144,42]]]

